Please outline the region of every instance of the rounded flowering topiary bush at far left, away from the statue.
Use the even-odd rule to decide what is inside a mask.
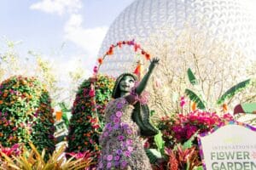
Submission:
[[[10,77],[0,85],[0,144],[32,142],[46,156],[55,150],[54,119],[49,94],[37,79]]]

